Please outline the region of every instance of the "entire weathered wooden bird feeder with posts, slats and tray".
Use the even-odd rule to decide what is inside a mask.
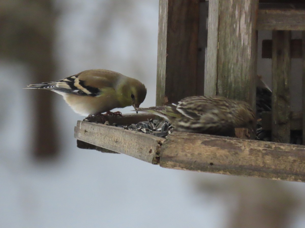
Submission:
[[[164,168],[305,182],[305,147],[288,144],[295,128],[303,130],[305,142],[303,1],[160,0],[156,105],[221,95],[247,101],[254,109],[258,30],[272,30],[272,40],[262,43],[262,57],[272,58],[272,111],[262,119],[273,142],[242,139],[240,129],[240,138],[175,131],[164,139],[78,121],[78,147],[127,154]],[[291,30],[302,30],[302,39],[291,40]],[[300,113],[290,112],[291,58],[303,59]],[[131,114],[113,121],[150,118]]]

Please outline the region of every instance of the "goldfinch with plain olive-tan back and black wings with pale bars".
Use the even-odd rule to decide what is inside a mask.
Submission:
[[[101,69],[82,71],[59,81],[31,84],[27,88],[59,93],[74,112],[83,116],[131,105],[138,108],[146,96],[146,88],[140,81]]]

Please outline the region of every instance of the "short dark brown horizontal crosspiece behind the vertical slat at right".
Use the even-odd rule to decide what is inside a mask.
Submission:
[[[302,40],[295,39],[290,42],[291,58],[302,58]],[[272,40],[263,40],[262,42],[262,58],[272,58]]]

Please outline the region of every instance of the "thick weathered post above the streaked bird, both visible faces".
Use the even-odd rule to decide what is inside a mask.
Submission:
[[[210,1],[205,95],[255,107],[257,0]]]

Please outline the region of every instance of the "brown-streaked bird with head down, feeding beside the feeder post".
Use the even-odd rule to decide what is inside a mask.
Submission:
[[[255,113],[243,101],[224,97],[192,96],[166,106],[135,108],[166,119],[178,131],[220,134],[236,127],[254,127]]]

